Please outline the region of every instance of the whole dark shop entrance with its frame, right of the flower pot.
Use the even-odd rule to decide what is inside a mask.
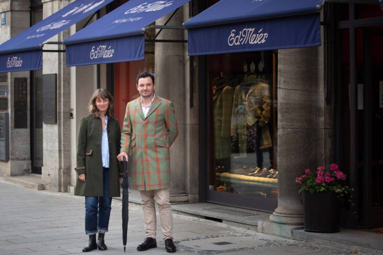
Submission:
[[[337,6],[337,159],[355,189],[347,225],[383,227],[383,9]],[[343,14],[342,14],[343,13]]]

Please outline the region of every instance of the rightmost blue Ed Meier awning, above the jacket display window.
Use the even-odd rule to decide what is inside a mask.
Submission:
[[[184,23],[189,55],[318,46],[323,0],[220,0]]]

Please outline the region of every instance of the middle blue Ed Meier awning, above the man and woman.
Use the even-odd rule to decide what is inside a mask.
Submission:
[[[145,58],[144,27],[190,0],[130,0],[64,40],[66,65]]]

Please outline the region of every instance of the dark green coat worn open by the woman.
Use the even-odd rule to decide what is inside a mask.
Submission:
[[[120,152],[121,130],[117,119],[108,120],[109,140],[109,195],[120,196],[119,177],[122,176],[117,155]],[[103,169],[101,156],[102,123],[92,115],[83,117],[77,139],[77,176],[86,174],[85,182],[77,178],[74,194],[77,196],[103,196]]]

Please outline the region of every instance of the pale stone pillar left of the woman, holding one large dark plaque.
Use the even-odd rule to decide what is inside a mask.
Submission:
[[[43,0],[43,18],[63,8],[66,0]],[[50,41],[63,41],[65,30]],[[45,45],[44,49],[62,49],[61,45]],[[42,181],[45,188],[65,192],[70,184],[70,73],[65,66],[65,53],[43,53],[42,74],[57,74],[57,123],[43,124]]]

